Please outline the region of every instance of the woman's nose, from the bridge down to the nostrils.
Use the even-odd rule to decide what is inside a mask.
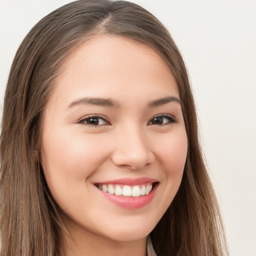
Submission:
[[[155,160],[150,150],[145,132],[138,128],[122,129],[116,140],[112,153],[112,162],[117,166],[141,169]]]

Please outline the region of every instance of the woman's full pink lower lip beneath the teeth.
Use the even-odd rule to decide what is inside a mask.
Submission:
[[[129,196],[123,196],[123,195],[109,194],[100,189],[98,189],[98,190],[106,199],[108,199],[109,201],[115,203],[116,205],[118,205],[120,207],[129,208],[129,209],[137,209],[137,208],[141,208],[141,207],[145,206],[153,199],[157,186],[158,186],[158,183],[154,184],[153,189],[150,191],[149,194],[141,195],[138,197],[129,197]]]

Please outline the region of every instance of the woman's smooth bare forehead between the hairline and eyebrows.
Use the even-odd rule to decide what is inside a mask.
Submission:
[[[140,88],[138,93],[153,96],[163,87],[178,95],[175,78],[156,51],[123,36],[94,36],[82,42],[71,51],[60,71],[55,84],[57,95],[66,90],[77,97],[86,90],[86,96],[105,96],[107,92],[128,93]]]

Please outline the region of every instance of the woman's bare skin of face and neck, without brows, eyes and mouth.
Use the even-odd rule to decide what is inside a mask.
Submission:
[[[166,63],[129,38],[95,36],[63,63],[44,111],[41,164],[72,237],[62,235],[66,255],[146,255],[147,235],[178,190],[187,152],[180,103],[148,105],[166,96],[179,99]],[[83,97],[116,104],[77,103]],[[95,114],[104,118],[98,125],[84,119]],[[171,118],[155,124],[158,114]],[[140,208],[118,206],[95,186],[137,177],[158,181]]]

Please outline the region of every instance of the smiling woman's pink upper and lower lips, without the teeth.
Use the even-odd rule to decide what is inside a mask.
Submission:
[[[108,180],[104,182],[105,184],[127,184],[127,185],[138,185],[142,183],[156,182],[154,179],[150,178],[138,178],[138,179],[115,179],[115,180]],[[155,195],[155,191],[158,187],[158,182],[153,184],[153,189],[151,192],[147,195],[142,195],[139,197],[128,197],[128,196],[122,196],[122,195],[115,195],[115,194],[109,194],[107,192],[104,192],[100,189],[98,191],[100,194],[102,194],[107,200],[113,202],[114,204],[123,207],[123,208],[129,208],[129,209],[137,209],[145,206],[146,204],[150,203],[150,201],[153,199]]]

